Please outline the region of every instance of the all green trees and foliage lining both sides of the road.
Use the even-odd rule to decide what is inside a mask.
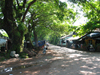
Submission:
[[[4,29],[11,40],[10,48],[5,54],[10,57],[11,51],[16,51],[22,57],[24,41],[29,41],[28,51],[38,53],[37,43],[47,40],[57,45],[62,35],[76,31],[83,35],[100,26],[100,1],[99,0],[68,0],[82,6],[84,16],[88,22],[79,27],[73,26],[78,13],[68,4],[59,0],[2,0],[0,1],[0,29]],[[74,8],[74,6],[73,6]],[[78,29],[77,29],[78,28]],[[77,29],[77,30],[76,30]],[[36,46],[33,45],[35,42]],[[2,57],[0,60],[3,60]]]

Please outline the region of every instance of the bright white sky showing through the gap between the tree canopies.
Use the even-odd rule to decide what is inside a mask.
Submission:
[[[68,4],[68,8],[71,8],[71,2],[68,2],[67,0],[60,0],[61,2],[66,2]],[[86,17],[83,16],[83,12],[80,11],[81,7],[78,7],[75,4],[75,8],[74,11],[78,10],[78,12],[80,13],[78,16],[80,16],[80,18],[73,24],[74,26],[79,26],[81,24],[85,24],[88,19]]]

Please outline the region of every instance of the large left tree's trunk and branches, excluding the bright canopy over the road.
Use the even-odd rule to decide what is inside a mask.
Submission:
[[[10,51],[21,52],[23,49],[24,35],[27,27],[24,25],[24,20],[30,6],[35,3],[36,0],[2,0],[0,28],[3,28],[11,39]]]

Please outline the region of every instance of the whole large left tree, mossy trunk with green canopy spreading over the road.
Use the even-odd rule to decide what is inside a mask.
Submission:
[[[37,30],[43,30],[42,28],[56,31],[62,30],[64,26],[59,26],[56,22],[60,23],[63,18],[66,19],[65,15],[69,16],[67,18],[68,20],[72,17],[74,18],[75,15],[72,10],[65,7],[66,4],[59,2],[59,0],[0,1],[0,28],[4,29],[11,39],[9,53],[10,51],[20,53],[23,50],[24,35],[28,31],[31,33],[36,31],[37,33]],[[31,17],[27,17],[29,14]],[[31,34],[28,36],[31,36]]]

